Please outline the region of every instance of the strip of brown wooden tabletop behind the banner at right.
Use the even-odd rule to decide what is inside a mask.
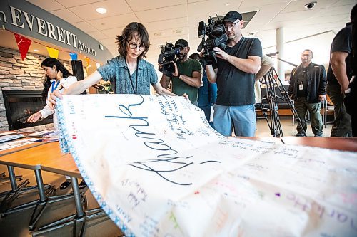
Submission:
[[[344,137],[281,137],[284,144],[338,149],[357,152],[357,138]]]

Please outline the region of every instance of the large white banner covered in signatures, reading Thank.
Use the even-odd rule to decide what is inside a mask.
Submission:
[[[61,145],[126,236],[357,236],[357,154],[227,138],[181,97],[72,95]]]

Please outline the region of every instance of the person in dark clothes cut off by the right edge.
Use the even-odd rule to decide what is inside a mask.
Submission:
[[[356,6],[351,11],[351,20],[356,17]],[[351,22],[338,31],[331,43],[330,65],[327,70],[326,91],[333,102],[334,120],[331,137],[352,137],[351,116],[346,112],[343,98],[352,78]],[[354,102],[356,103],[356,102]]]

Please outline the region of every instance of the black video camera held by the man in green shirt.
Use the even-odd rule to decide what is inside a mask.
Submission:
[[[171,75],[175,73],[175,65],[172,62],[176,62],[175,56],[180,53],[180,48],[175,48],[171,42],[160,47],[161,53],[159,54],[158,63],[161,64],[162,67],[159,68],[159,71],[165,75]]]

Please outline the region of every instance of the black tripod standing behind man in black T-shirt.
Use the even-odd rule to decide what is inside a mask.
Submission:
[[[303,135],[305,135],[306,137],[305,130],[303,130],[303,126],[301,124],[301,119],[300,117],[298,117],[298,113],[296,112],[295,107],[293,107],[293,102],[288,97],[288,93],[283,87],[283,83],[281,83],[281,80],[278,77],[278,73],[276,73],[274,67],[271,67],[268,70],[268,73],[263,76],[261,84],[262,83],[266,85],[265,97],[268,101],[269,108],[266,109],[263,107],[263,105],[261,105],[261,110],[263,112],[263,116],[266,119],[266,122],[268,123],[269,130],[271,130],[271,135],[273,135],[273,137],[283,137],[283,130],[281,128],[281,122],[278,114],[278,103],[276,102],[276,98],[279,98],[287,102],[289,109],[293,113],[293,116],[296,117],[296,122],[298,123],[298,126],[301,128],[301,130],[303,131]],[[278,88],[282,98],[276,95],[275,88]],[[270,120],[268,120],[267,112],[269,112],[270,114]]]

